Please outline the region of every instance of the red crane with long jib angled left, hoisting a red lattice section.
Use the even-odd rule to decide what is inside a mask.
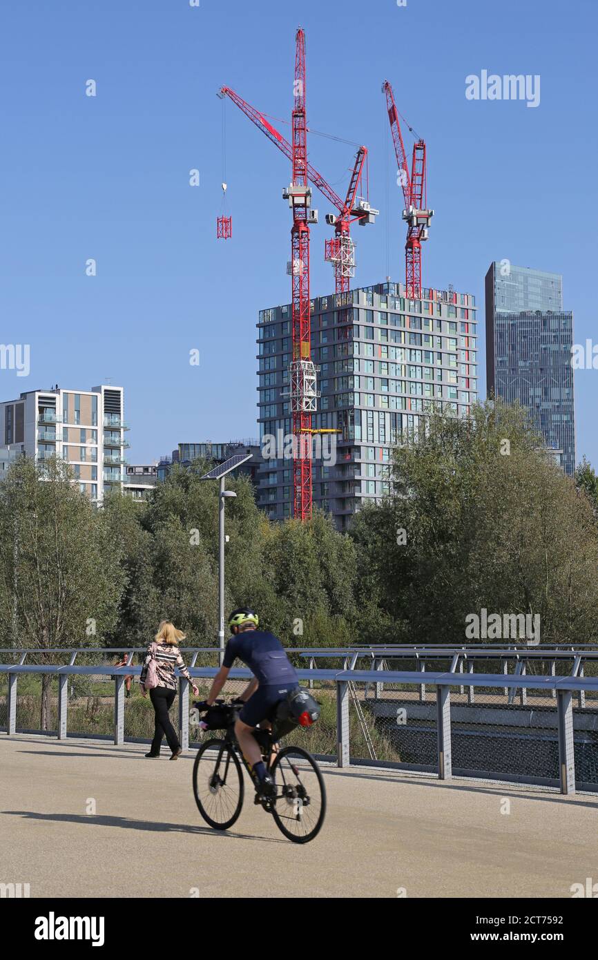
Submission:
[[[220,97],[229,97],[239,109],[241,109],[251,122],[265,133],[278,150],[289,160],[293,159],[293,148],[288,140],[278,132],[269,120],[251,107],[247,101],[243,100],[238,93],[230,89],[229,86],[221,87]],[[326,198],[338,211],[337,214],[327,213],[326,223],[334,227],[335,236],[325,241],[324,258],[332,263],[334,269],[334,287],[336,293],[344,293],[349,288],[350,278],[355,276],[355,244],[350,236],[350,225],[355,220],[360,226],[372,224],[379,213],[374,209],[368,200],[359,197],[359,189],[363,184],[364,170],[368,159],[368,149],[360,147],[355,156],[355,162],[351,172],[349,184],[347,187],[347,196],[341,200],[336,191],[330,184],[324,180],[322,174],[312,167],[307,161],[307,176],[309,181],[320,190],[323,197]]]

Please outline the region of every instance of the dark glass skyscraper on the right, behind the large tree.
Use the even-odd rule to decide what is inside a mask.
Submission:
[[[488,393],[527,407],[565,473],[575,470],[573,314],[562,276],[494,261],[486,275]]]

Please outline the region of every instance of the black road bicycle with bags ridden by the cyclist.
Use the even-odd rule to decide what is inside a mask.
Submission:
[[[207,713],[208,729],[224,730],[222,738],[204,740],[193,764],[193,792],[203,820],[217,830],[227,830],[243,807],[245,779],[242,764],[253,786],[250,765],[243,756],[234,724],[243,704],[217,701]],[[280,737],[296,729],[288,719],[269,718],[272,730],[255,730],[266,770],[274,782],[272,796],[255,793],[255,804],[271,813],[276,826],[293,843],[308,843],[319,833],[326,812],[326,792],[320,768],[301,747],[280,747]]]

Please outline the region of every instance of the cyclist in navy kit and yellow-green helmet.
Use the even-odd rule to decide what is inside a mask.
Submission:
[[[214,677],[207,700],[199,708],[211,707],[227,683],[230,667],[237,658],[249,666],[253,679],[240,696],[244,707],[234,726],[239,746],[250,764],[259,794],[272,793],[274,783],[266,774],[261,749],[252,735],[259,724],[269,727],[267,721],[278,703],[287,693],[299,687],[299,680],[282,643],[274,634],[258,630],[259,619],[249,607],[240,607],[228,617],[228,627],[233,635],[227,642],[223,665]]]

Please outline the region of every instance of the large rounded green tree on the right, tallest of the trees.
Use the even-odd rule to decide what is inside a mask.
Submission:
[[[466,616],[540,616],[543,639],[592,638],[598,541],[586,498],[541,449],[526,412],[431,414],[397,448],[391,496],[353,537],[395,636],[463,642]]]

